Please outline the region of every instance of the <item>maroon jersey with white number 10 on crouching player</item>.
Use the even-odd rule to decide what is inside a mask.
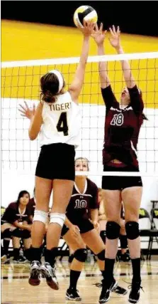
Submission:
[[[89,219],[89,209],[98,209],[98,188],[94,182],[86,179],[83,193],[80,193],[74,184],[66,216],[72,224],[77,224],[81,219]]]

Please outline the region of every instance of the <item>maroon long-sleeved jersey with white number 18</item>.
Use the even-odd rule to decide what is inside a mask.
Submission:
[[[112,159],[118,159],[120,162],[138,167],[137,141],[142,125],[144,105],[136,85],[128,88],[128,91],[130,104],[121,109],[111,85],[101,89],[106,104],[103,164]]]

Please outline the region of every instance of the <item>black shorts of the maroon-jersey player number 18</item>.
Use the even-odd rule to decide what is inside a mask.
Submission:
[[[103,166],[104,172],[139,172],[136,167],[126,166],[123,168],[110,167],[107,165]],[[141,177],[102,177],[102,189],[107,190],[123,190],[128,187],[142,187]]]

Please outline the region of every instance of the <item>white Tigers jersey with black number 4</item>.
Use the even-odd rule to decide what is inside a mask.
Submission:
[[[42,116],[40,147],[57,142],[79,145],[81,115],[69,92],[59,95],[55,103],[44,103]]]

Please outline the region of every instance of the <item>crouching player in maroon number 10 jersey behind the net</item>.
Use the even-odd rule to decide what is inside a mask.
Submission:
[[[89,171],[87,159],[78,158],[75,161],[76,171]],[[89,214],[91,221],[89,220]],[[98,188],[85,175],[76,176],[72,197],[67,206],[66,221],[62,228],[62,237],[74,251],[74,258],[70,266],[70,283],[67,289],[67,300],[81,300],[77,292],[83,263],[86,261],[88,246],[98,258],[98,266],[104,276],[105,244],[98,232]],[[113,279],[113,290],[118,283]],[[122,294],[126,293],[120,288]]]

